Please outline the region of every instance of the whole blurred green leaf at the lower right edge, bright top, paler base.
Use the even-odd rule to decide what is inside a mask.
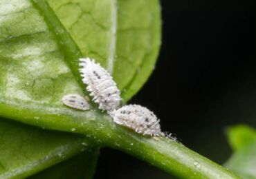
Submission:
[[[226,162],[226,167],[245,179],[256,178],[256,131],[246,125],[228,129],[228,138],[235,153]]]

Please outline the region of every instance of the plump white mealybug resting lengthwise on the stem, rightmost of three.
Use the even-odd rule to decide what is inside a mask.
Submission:
[[[113,122],[124,125],[136,132],[149,135],[161,136],[159,120],[153,112],[140,105],[125,105],[110,113]]]

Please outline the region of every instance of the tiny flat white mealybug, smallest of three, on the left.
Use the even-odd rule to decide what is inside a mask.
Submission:
[[[89,103],[78,94],[68,94],[62,98],[62,102],[64,105],[75,109],[81,109],[84,111],[89,109]]]

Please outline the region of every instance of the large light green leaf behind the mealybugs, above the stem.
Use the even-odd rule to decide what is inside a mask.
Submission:
[[[55,1],[55,3],[57,2],[59,1]],[[86,8],[92,7],[91,10],[84,10],[80,17],[82,19],[76,19],[76,22],[83,19],[93,19],[91,22],[85,23],[82,21],[78,25],[75,23],[68,26],[65,23],[71,21],[70,17],[61,18],[61,21],[66,25],[66,29],[73,35],[78,47],[55,16],[55,12],[44,1],[35,1],[32,4],[28,0],[21,0],[19,6],[16,4],[17,1],[5,0],[1,2],[3,9],[0,28],[1,103],[17,105],[17,103],[29,102],[35,103],[35,105],[43,104],[48,107],[62,107],[65,109],[61,102],[64,94],[84,94],[84,89],[79,85],[81,82],[77,70],[77,58],[82,54],[88,56],[90,52],[100,54],[101,49],[103,49],[102,51],[109,50],[107,51],[109,54],[102,52],[100,56],[108,54],[107,57],[113,56],[113,59],[106,58],[106,56],[104,58],[95,57],[98,57],[97,60],[104,66],[107,66],[107,64],[113,65],[113,76],[119,78],[119,80],[116,79],[118,85],[125,86],[129,84],[131,86],[130,79],[135,78],[136,71],[141,71],[138,65],[142,65],[142,57],[149,52],[153,52],[155,48],[158,50],[160,18],[158,1],[156,0],[141,1],[140,3],[135,1],[104,1],[104,3],[100,1],[100,3],[97,3],[97,1],[93,1],[91,6],[89,6],[91,3],[86,3],[86,1],[60,2],[62,4],[57,6],[50,1],[51,6],[56,8],[59,16],[63,14],[73,16],[72,12],[66,13],[68,11],[62,10],[67,6],[68,10],[76,12],[76,8],[69,7],[73,7],[73,3],[75,7],[77,5],[80,8],[84,6]],[[136,10],[140,11],[134,17],[134,11]],[[134,20],[131,19],[132,17]],[[140,17],[143,22],[138,21]],[[72,26],[79,28],[79,30],[74,28],[75,32],[73,32]],[[104,26],[106,26],[106,29]],[[91,27],[91,30],[88,27]],[[100,28],[101,31],[97,32],[96,29]],[[87,34],[84,34],[84,32],[87,32]],[[107,41],[102,41],[104,38],[101,37],[101,34],[107,36]],[[81,36],[84,36],[85,39],[79,41],[82,38]],[[91,38],[86,39],[86,36],[91,36]],[[121,38],[122,36],[123,38]],[[140,39],[139,36],[143,39]],[[115,38],[116,40],[114,40]],[[156,43],[153,43],[152,39]],[[119,43],[120,45],[118,45]],[[99,44],[102,44],[105,48]],[[111,45],[115,49],[113,52],[113,49],[110,48]],[[138,45],[139,48],[135,45]],[[86,48],[87,46],[89,47]],[[118,48],[124,48],[123,51],[120,51],[120,57],[116,54],[119,52]],[[114,55],[110,55],[111,53],[114,53]],[[129,56],[131,59],[122,58],[121,54],[127,58]],[[135,54],[140,54],[140,58],[134,56]],[[150,58],[155,61],[156,55]],[[125,63],[130,63],[130,65]],[[153,69],[154,63],[151,65],[149,63],[147,63],[147,66],[151,66]],[[112,67],[107,66],[107,68]],[[149,73],[151,70],[147,69],[146,71]],[[147,78],[145,77],[147,75],[141,72],[139,76]],[[127,79],[129,82],[124,83]],[[142,81],[139,83],[140,86],[143,85]],[[123,87],[120,88],[123,89]],[[136,90],[138,89],[134,89],[134,92]],[[124,95],[131,96],[129,94],[131,91],[128,90]]]

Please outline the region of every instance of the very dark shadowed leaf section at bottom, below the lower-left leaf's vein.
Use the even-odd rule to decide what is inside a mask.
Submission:
[[[98,151],[86,151],[28,179],[89,179],[93,178]]]

